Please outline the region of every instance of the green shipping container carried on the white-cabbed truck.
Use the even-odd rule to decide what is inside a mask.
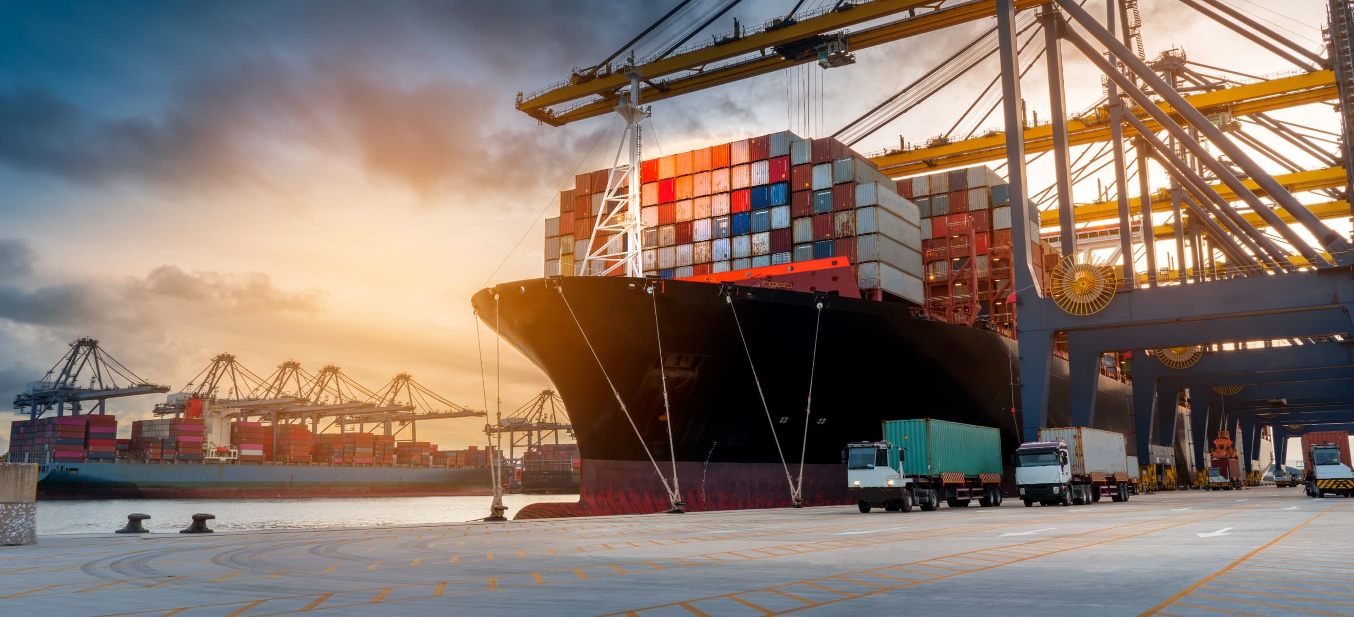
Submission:
[[[1001,430],[941,419],[884,421],[884,440],[903,451],[904,476],[1002,472]],[[898,468],[896,453],[890,463]]]

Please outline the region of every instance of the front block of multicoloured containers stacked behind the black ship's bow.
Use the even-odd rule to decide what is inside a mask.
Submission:
[[[921,210],[835,139],[774,133],[643,161],[639,176],[646,275],[846,257],[862,290],[923,300]],[[561,193],[559,218],[546,222],[546,276],[581,273],[605,183],[605,172],[585,173]]]

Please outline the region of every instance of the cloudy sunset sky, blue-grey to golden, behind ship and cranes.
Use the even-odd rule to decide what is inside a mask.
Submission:
[[[1228,1],[1320,49],[1324,1]],[[542,214],[575,170],[608,165],[620,138],[609,116],[539,126],[513,110],[515,95],[600,61],[672,4],[3,3],[0,402],[8,410],[68,342],[91,336],[173,390],[232,352],[261,375],[288,359],[311,371],[334,363],[371,388],[408,371],[483,407],[470,295],[540,276]],[[711,31],[791,5],[746,1]],[[1141,7],[1148,57],[1179,46],[1247,73],[1289,69],[1178,3]],[[822,122],[800,133],[835,131],[986,27],[811,68]],[[1064,53],[1080,110],[1099,77]],[[798,70],[654,104],[646,153],[791,127],[785,88]],[[960,80],[857,149],[944,133],[994,74],[990,65]],[[1047,118],[1043,76],[1041,65],[1029,73],[1026,99]],[[1293,114],[1338,126],[1328,108]],[[506,414],[550,383],[502,350]],[[126,428],[154,402],[115,410]],[[420,437],[478,444],[478,425],[427,425]]]

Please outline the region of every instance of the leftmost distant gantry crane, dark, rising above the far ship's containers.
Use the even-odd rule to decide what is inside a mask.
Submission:
[[[168,391],[168,386],[138,378],[100,349],[99,341],[85,337],[72,342],[70,350],[41,380],[28,382],[14,398],[14,407],[27,413],[28,419],[38,419],[47,411],[79,415],[81,402],[96,401],[88,413],[104,414],[104,403],[111,398]]]

